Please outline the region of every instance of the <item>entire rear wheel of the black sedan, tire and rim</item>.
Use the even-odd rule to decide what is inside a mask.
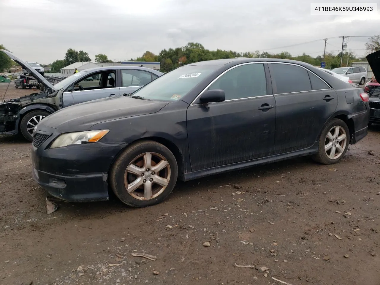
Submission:
[[[350,142],[350,130],[340,119],[332,119],[326,123],[320,138],[318,154],[313,160],[322,164],[334,164],[344,157]]]

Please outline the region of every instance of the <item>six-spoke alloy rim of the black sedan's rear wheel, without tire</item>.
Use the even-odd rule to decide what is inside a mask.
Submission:
[[[325,152],[328,158],[337,159],[342,156],[347,144],[347,134],[343,127],[332,127],[325,139]]]

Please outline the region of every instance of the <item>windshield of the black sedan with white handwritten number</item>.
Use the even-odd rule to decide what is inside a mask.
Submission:
[[[179,67],[137,90],[133,96],[157,101],[177,101],[218,68],[220,65]]]

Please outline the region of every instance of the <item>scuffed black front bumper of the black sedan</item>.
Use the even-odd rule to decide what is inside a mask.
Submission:
[[[70,202],[109,199],[108,171],[125,144],[95,142],[49,149],[60,132],[54,129],[37,133],[50,133],[39,147],[32,143],[32,175],[41,187]]]

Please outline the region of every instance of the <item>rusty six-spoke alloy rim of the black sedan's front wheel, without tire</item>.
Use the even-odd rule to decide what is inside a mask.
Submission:
[[[124,186],[135,199],[150,200],[168,186],[171,169],[163,155],[146,152],[135,157],[124,173]]]

